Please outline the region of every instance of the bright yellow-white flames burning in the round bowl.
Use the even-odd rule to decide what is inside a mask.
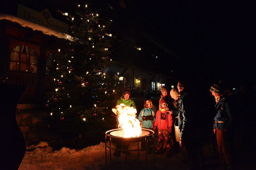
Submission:
[[[123,131],[120,131],[120,137],[138,137],[141,135],[140,122],[136,119],[137,110],[133,107],[125,106],[120,104],[116,106],[116,109],[113,108],[112,111],[118,115],[118,127],[122,128]]]

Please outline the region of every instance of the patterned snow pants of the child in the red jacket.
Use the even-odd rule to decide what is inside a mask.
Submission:
[[[168,130],[158,129],[158,143],[157,143],[157,151],[163,152],[164,141],[166,144],[166,154],[172,153],[172,142],[170,140],[170,136],[167,133]]]

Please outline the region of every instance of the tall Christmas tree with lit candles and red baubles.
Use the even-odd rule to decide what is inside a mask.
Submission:
[[[55,91],[48,94],[50,126],[64,134],[86,134],[113,126],[111,111],[116,75],[108,70],[112,60],[111,37],[100,25],[97,11],[76,6],[68,17],[71,38],[59,49],[52,70]]]

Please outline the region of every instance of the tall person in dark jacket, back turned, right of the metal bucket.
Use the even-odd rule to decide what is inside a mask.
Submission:
[[[188,93],[189,85],[185,80],[180,80],[177,87],[180,93],[179,144],[183,147],[183,156],[189,169],[198,170],[200,169],[197,154],[199,128],[197,127],[197,116],[193,105],[194,99]]]

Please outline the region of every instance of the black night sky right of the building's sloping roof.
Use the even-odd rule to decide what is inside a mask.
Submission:
[[[134,10],[154,25],[181,58],[180,77],[230,85],[255,85],[255,7],[246,1],[134,2]],[[182,76],[181,76],[182,75]]]

